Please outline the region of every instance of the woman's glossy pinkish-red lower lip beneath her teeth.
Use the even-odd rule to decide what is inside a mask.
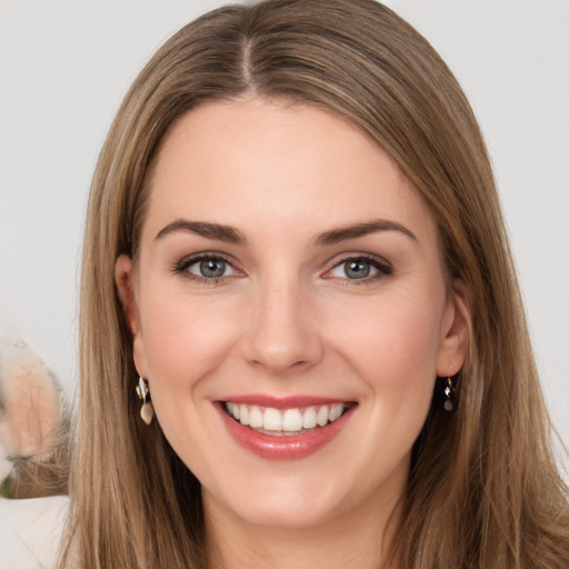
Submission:
[[[338,420],[326,427],[316,428],[302,435],[280,437],[257,432],[233,420],[224,411],[224,403],[217,407],[227,429],[244,449],[269,460],[299,460],[313,455],[335,439],[349,421],[357,406],[348,409]]]

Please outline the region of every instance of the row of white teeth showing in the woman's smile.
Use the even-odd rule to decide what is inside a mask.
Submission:
[[[231,419],[244,427],[273,437],[292,437],[312,432],[337,421],[353,407],[351,402],[274,409],[226,401],[223,409]]]

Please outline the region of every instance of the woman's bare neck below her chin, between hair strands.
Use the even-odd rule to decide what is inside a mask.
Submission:
[[[206,497],[204,497],[206,498]],[[313,527],[267,528],[204,499],[209,569],[396,569],[386,565],[396,500],[370,500]]]

